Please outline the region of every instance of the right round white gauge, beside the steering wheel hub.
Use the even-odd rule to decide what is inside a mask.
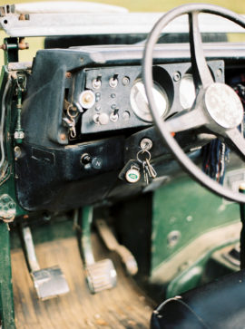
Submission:
[[[191,109],[196,98],[196,89],[191,74],[184,74],[180,84],[180,102],[184,110]]]

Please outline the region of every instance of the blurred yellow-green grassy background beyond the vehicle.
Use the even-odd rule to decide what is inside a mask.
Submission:
[[[54,1],[54,0],[53,0]],[[171,0],[171,1],[164,1],[164,0],[86,0],[87,2],[97,2],[103,3],[107,5],[121,5],[127,8],[129,11],[132,12],[166,12],[171,8],[188,4],[188,3],[208,3],[212,5],[220,5],[224,6],[234,12],[244,14],[245,15],[245,0],[213,0],[207,1],[205,0],[198,1],[198,0]],[[30,3],[36,2],[34,0],[14,0],[13,2],[7,0],[0,0],[0,5],[13,5],[17,3]],[[48,2],[45,1],[44,2]],[[5,34],[0,31],[0,43],[3,44],[3,40],[5,38]],[[236,36],[233,36],[232,41],[241,40],[240,36],[238,39]],[[30,50],[20,52],[20,61],[32,61],[34,54],[37,49],[40,49],[44,45],[44,38],[26,38],[26,42],[30,44]],[[3,51],[0,51],[0,65],[4,63],[4,56]]]

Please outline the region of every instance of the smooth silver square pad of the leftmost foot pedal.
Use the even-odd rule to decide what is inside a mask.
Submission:
[[[38,298],[45,300],[64,295],[69,286],[59,266],[42,268],[31,273]]]

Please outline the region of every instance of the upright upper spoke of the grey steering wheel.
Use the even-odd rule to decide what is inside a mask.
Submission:
[[[210,69],[205,60],[203,48],[201,46],[201,33],[198,23],[198,12],[189,14],[190,48],[192,74],[196,90],[206,89],[213,82]]]

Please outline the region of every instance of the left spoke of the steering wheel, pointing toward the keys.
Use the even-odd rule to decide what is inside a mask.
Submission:
[[[182,111],[166,121],[169,131],[180,132],[200,128],[208,123],[208,119],[200,108]]]

